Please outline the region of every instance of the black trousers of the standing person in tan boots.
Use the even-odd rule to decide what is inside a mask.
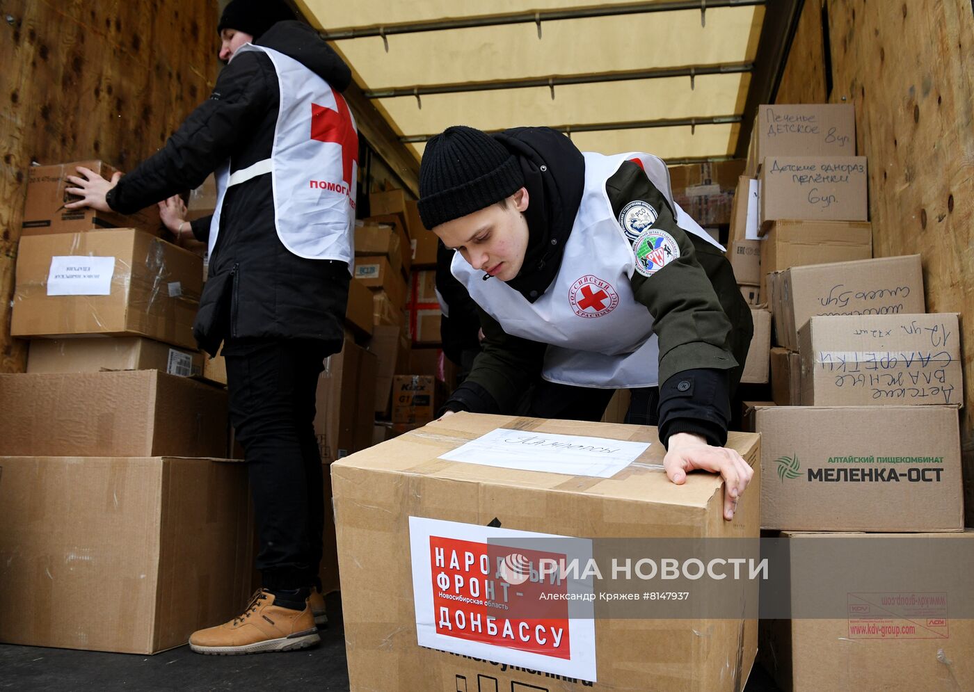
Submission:
[[[246,339],[223,347],[230,422],[244,448],[267,589],[318,583],[324,522],[315,392],[329,346]]]

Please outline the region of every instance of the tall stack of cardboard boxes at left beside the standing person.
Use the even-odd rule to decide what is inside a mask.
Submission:
[[[154,209],[64,209],[76,165],[29,175],[12,317],[29,360],[0,375],[0,640],[152,653],[246,598],[246,471],[224,460],[226,391],[196,381],[202,259]]]

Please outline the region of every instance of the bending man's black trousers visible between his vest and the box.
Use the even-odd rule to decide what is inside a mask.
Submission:
[[[625,422],[637,425],[659,423],[659,387],[631,389],[632,398]],[[541,380],[522,400],[519,416],[539,419],[601,420],[615,389],[558,384]]]

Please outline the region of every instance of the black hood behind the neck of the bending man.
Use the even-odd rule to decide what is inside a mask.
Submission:
[[[534,303],[561,267],[585,186],[585,159],[572,140],[550,127],[513,127],[494,135],[517,157],[528,190],[528,248],[507,285]]]

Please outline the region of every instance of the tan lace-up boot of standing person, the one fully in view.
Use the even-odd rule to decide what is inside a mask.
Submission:
[[[228,623],[194,632],[189,647],[202,654],[224,656],[270,651],[292,651],[320,641],[315,618],[307,604],[292,610],[274,604],[274,594],[254,592],[243,615]]]

